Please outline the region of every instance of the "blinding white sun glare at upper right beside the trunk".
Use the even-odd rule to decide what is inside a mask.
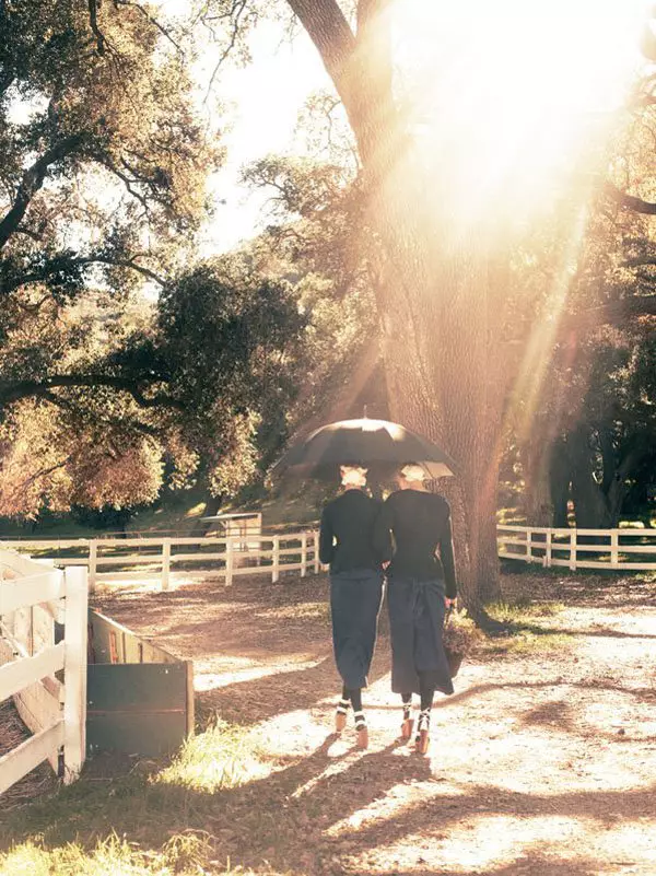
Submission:
[[[500,198],[535,209],[593,172],[621,124],[643,22],[642,0],[397,2],[398,87],[442,200],[464,217]]]

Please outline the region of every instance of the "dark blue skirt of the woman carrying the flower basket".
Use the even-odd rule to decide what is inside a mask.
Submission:
[[[444,582],[415,581],[390,575],[387,586],[391,639],[391,689],[420,693],[425,686],[453,693],[454,685],[444,646]]]

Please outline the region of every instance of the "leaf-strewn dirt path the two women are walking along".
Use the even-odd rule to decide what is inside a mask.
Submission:
[[[101,600],[191,657],[201,716],[244,726],[258,778],[204,829],[233,865],[293,874],[656,875],[656,582],[508,575],[566,604],[488,649],[434,709],[430,757],[397,739],[382,623],[372,745],[329,736],[338,679],[326,582],[203,584]],[[567,639],[564,638],[567,634]],[[530,644],[532,642],[532,644]]]

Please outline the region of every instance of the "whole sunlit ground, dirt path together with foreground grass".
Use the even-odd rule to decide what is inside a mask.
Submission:
[[[196,634],[175,641],[204,681],[214,673],[199,690],[207,728],[166,769],[69,789],[27,828],[58,851],[22,845],[0,873],[653,876],[655,585],[563,581],[530,575],[527,593],[546,601],[495,609],[543,644],[468,661],[436,704],[429,758],[397,738],[385,634],[365,694],[370,749],[352,727],[330,735],[339,686],[327,619],[309,610],[320,580],[196,588]],[[117,595],[107,608],[140,632],[159,628],[167,646],[186,623],[175,594],[139,608]],[[229,705],[231,723],[216,724],[212,709]],[[71,830],[82,845],[65,845]]]

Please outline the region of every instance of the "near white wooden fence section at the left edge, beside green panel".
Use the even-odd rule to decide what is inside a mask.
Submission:
[[[0,794],[44,760],[59,772],[60,755],[66,783],[80,773],[86,611],[86,569],[62,571],[0,549],[0,702],[12,697],[34,734],[0,758]],[[57,644],[56,621],[65,631]]]

